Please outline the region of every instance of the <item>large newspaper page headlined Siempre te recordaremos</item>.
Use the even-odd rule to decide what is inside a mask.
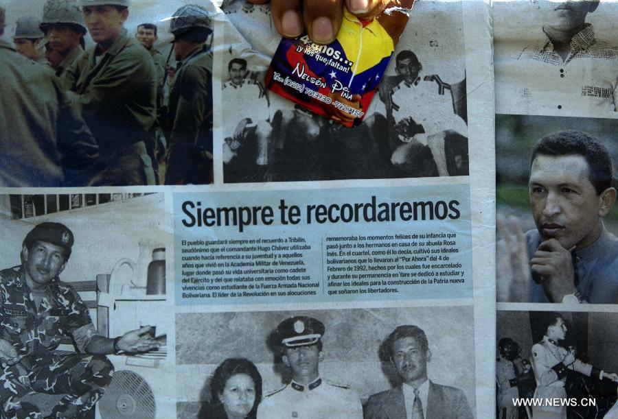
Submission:
[[[391,12],[347,128],[268,3],[0,1],[1,417],[495,416],[491,5]]]

